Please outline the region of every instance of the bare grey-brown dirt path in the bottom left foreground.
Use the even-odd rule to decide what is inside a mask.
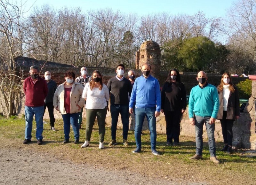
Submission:
[[[75,164],[33,150],[30,145],[13,146],[0,142],[0,184],[188,184],[156,179],[125,170],[113,171],[98,166]],[[12,145],[13,144],[13,145]],[[190,183],[203,185],[203,183]]]

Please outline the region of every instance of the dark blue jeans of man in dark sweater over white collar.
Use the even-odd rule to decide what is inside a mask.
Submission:
[[[111,113],[111,137],[112,140],[116,139],[116,126],[118,121],[119,113],[121,114],[121,120],[123,124],[123,139],[127,139],[128,130],[129,130],[129,106],[128,105],[119,105],[119,104],[110,104],[110,113]]]

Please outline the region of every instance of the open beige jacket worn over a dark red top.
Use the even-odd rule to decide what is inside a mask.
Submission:
[[[64,85],[66,84],[66,81],[59,85],[54,93],[53,96],[53,106],[56,109],[57,106],[59,106],[59,111],[61,114],[66,114],[64,108]],[[72,89],[70,92],[70,114],[81,112],[81,109],[78,111],[79,105],[81,108],[84,106],[84,99],[82,98],[84,87],[77,82],[74,82],[72,84]]]

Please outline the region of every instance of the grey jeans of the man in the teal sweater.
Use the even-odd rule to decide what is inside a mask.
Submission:
[[[202,156],[203,154],[203,126],[205,123],[208,135],[209,152],[211,157],[216,156],[214,130],[215,124],[210,125],[210,116],[201,117],[195,115],[195,129],[196,129],[196,155]]]

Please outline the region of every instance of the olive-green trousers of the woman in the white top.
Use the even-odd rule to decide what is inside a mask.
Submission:
[[[107,115],[107,109],[86,109],[86,130],[85,130],[85,141],[91,140],[92,127],[97,117],[99,125],[99,141],[104,142],[104,136],[106,132],[105,119]]]

